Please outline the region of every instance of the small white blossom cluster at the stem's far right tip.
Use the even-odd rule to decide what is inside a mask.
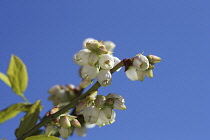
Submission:
[[[138,54],[132,59],[132,65],[128,67],[126,71],[127,77],[131,81],[140,80],[143,81],[145,76],[149,78],[153,77],[154,64],[161,61],[161,58],[155,55]]]

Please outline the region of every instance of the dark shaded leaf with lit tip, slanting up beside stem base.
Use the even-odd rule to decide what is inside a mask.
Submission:
[[[25,132],[36,125],[41,108],[42,106],[40,105],[40,100],[36,101],[31,106],[27,114],[21,119],[19,128],[15,131],[15,135],[17,138],[21,137]]]

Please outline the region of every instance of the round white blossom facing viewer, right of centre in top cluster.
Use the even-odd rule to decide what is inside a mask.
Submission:
[[[114,67],[114,58],[110,54],[102,54],[98,62],[100,67],[106,70],[110,70]]]

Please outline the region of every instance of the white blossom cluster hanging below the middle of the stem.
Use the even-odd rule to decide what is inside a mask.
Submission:
[[[97,124],[99,127],[112,124],[116,118],[114,109],[126,109],[124,98],[118,94],[96,95],[97,91],[93,91],[81,100],[76,107],[77,113],[82,113],[85,122],[89,124]]]

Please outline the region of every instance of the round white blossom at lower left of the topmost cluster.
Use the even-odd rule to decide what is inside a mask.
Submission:
[[[81,70],[81,76],[85,80],[92,80],[96,78],[99,73],[99,69],[95,66],[84,65]]]

